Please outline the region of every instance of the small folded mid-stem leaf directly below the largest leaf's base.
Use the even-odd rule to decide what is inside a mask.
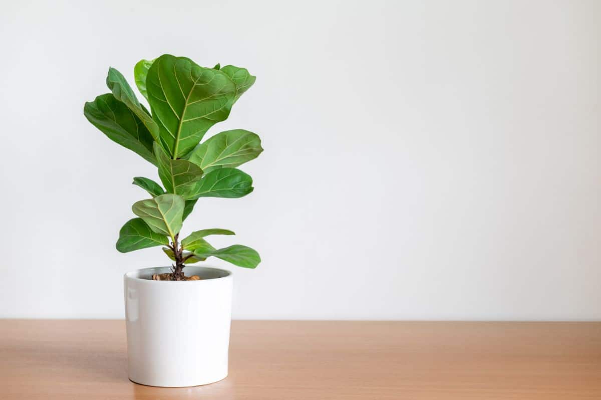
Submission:
[[[158,143],[154,143],[154,154],[159,162],[160,181],[169,193],[188,200],[195,193],[197,182],[203,177],[203,170],[188,160],[169,158]]]

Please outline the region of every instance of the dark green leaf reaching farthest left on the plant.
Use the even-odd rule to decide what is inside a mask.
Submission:
[[[111,93],[101,94],[93,102],[85,103],[84,115],[109,139],[157,165],[152,135],[140,118]]]

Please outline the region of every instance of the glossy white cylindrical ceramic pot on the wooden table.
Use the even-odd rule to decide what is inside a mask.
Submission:
[[[124,276],[129,379],[150,386],[197,386],[227,377],[230,271],[186,266],[202,280],[156,281],[169,267]]]

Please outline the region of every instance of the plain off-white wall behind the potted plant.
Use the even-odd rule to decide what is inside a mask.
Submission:
[[[210,131],[261,135],[255,192],[185,226],[260,250],[235,318],[601,318],[600,2],[2,8],[1,317],[122,318],[123,273],[166,264],[115,250],[156,171],[82,108],[168,52],[258,77]]]

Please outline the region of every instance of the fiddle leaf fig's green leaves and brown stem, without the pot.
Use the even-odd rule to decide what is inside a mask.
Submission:
[[[162,246],[174,263],[162,280],[186,280],[186,263],[217,257],[237,266],[255,268],[257,251],[234,244],[215,248],[211,235],[234,235],[227,229],[202,229],[180,238],[183,221],[201,197],[239,198],[253,191],[252,178],[237,169],[263,151],[257,134],[234,129],[204,135],[228,118],[234,103],[255,82],[248,70],[234,66],[201,67],[186,57],[164,54],[141,60],[133,75],[150,111],[116,69],[109,68],[111,93],[85,103],[84,115],[109,139],[157,167],[155,180],[137,176],[133,184],[150,198],[132,206],[138,218],[119,232],[117,250],[126,253]]]

